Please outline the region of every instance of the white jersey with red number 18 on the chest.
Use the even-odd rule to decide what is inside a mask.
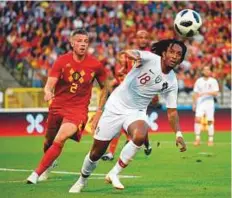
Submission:
[[[105,108],[114,113],[146,110],[156,94],[164,97],[167,108],[177,107],[178,85],[174,71],[164,74],[161,57],[148,51],[137,51],[142,66],[133,68],[112,92]]]

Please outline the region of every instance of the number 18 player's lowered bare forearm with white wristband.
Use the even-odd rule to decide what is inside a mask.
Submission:
[[[180,131],[179,116],[176,108],[168,108],[168,121],[172,130],[176,133],[176,146],[181,146],[180,152],[187,150],[183,135]]]

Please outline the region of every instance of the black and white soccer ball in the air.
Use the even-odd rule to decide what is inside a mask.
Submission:
[[[198,34],[201,25],[201,16],[190,9],[178,12],[174,20],[175,31],[183,37],[192,37]]]

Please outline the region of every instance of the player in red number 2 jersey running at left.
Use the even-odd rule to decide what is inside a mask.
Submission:
[[[88,105],[93,81],[100,85],[98,110],[91,120],[95,129],[102,114],[108,95],[106,72],[103,65],[87,54],[88,33],[77,29],[70,37],[72,51],[61,55],[54,63],[44,88],[44,99],[51,101],[44,142],[44,156],[38,167],[27,178],[27,183],[36,184],[41,174],[53,164],[61,154],[67,139],[80,141],[88,120]]]

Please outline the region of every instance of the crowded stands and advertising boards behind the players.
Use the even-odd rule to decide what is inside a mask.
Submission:
[[[198,11],[203,19],[203,25],[199,35],[193,39],[185,39],[188,47],[186,60],[176,70],[182,130],[190,132],[191,135],[187,134],[187,139],[193,141],[194,113],[191,110],[193,85],[200,76],[201,68],[210,65],[213,76],[220,85],[220,94],[216,98],[216,137],[218,132],[222,132],[222,136],[226,137],[218,137],[218,141],[227,142],[226,148],[223,149],[228,154],[228,146],[231,145],[228,135],[231,130],[230,1],[1,1],[0,141],[3,144],[3,156],[9,151],[6,142],[10,143],[12,136],[33,137],[44,134],[47,104],[43,101],[42,87],[54,60],[59,54],[70,49],[68,36],[73,29],[84,27],[90,32],[89,53],[101,60],[113,82],[114,67],[117,64],[116,54],[122,49],[135,48],[136,31],[148,30],[152,41],[176,37],[173,19],[178,11],[185,8]],[[98,87],[95,87],[90,116],[96,109],[98,92]],[[162,98],[159,103],[157,106],[150,106],[148,112],[152,125],[151,132],[158,135],[159,132],[170,131]],[[206,120],[203,119],[203,130],[207,129],[205,123]],[[86,130],[89,131],[88,126]],[[223,132],[228,133],[225,135]],[[42,139],[38,138],[40,138],[38,145],[41,146]],[[152,136],[152,140],[155,142],[157,139]],[[26,144],[27,141],[24,141]],[[217,142],[217,138],[215,141]],[[86,148],[89,147],[90,143]],[[220,153],[216,151],[217,147],[214,149],[208,152]],[[35,152],[40,154],[39,149]],[[38,159],[39,157],[35,158],[35,161]],[[6,158],[5,161],[7,160],[10,161],[11,158]],[[228,165],[231,162],[226,163]],[[5,164],[4,161],[1,161],[1,164]],[[14,166],[14,163],[11,165]],[[228,170],[227,167],[224,172],[227,175],[230,172]],[[8,176],[4,175],[5,178]],[[225,186],[228,187],[228,183]],[[226,189],[228,196],[230,190]],[[6,192],[6,197],[13,196],[10,192]],[[226,196],[218,195],[218,197]]]

